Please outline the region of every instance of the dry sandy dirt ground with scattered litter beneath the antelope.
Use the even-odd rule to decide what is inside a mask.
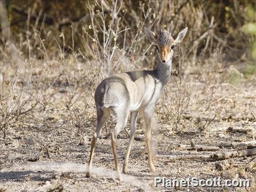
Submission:
[[[83,118],[80,119],[84,122],[81,125],[67,117],[70,110],[51,105],[47,112],[37,110],[26,117],[26,123],[10,127],[6,139],[0,137],[0,191],[255,191],[255,156],[167,162],[173,155],[202,155],[247,149],[247,146],[235,146],[220,147],[218,151],[189,151],[186,147],[191,146],[191,142],[195,145],[215,146],[220,142],[255,141],[256,122],[249,109],[250,103],[252,107],[256,105],[255,80],[241,78],[238,85],[226,82],[216,86],[214,80],[209,83],[201,77],[206,77],[207,73],[194,73],[190,69],[187,71],[186,85],[193,85],[194,90],[187,110],[182,115],[190,115],[190,118],[181,118],[178,126],[175,125],[174,117],[180,108],[171,101],[177,89],[174,87],[174,79],[177,77],[174,76],[155,108],[152,145],[155,148],[156,173],[152,174],[147,166],[143,121],[139,117],[128,175],[123,175],[123,182],[116,180],[113,172],[114,158],[108,137],[113,127],[111,121],[108,128],[102,129],[101,138],[96,143],[93,172],[91,178],[87,178],[86,165],[96,124],[94,104],[88,106],[88,116],[78,116],[78,119]],[[215,78],[221,77],[223,71],[210,74]],[[55,105],[62,105],[60,101],[66,92],[62,91],[62,85],[56,87],[59,88],[55,93]],[[92,95],[93,91],[89,94]],[[38,113],[43,115],[37,118]],[[128,133],[129,123],[117,141],[119,169],[122,168],[128,146]],[[217,164],[229,166],[218,170]],[[240,179],[249,179],[251,187],[153,187],[154,177],[233,179],[236,174]]]

